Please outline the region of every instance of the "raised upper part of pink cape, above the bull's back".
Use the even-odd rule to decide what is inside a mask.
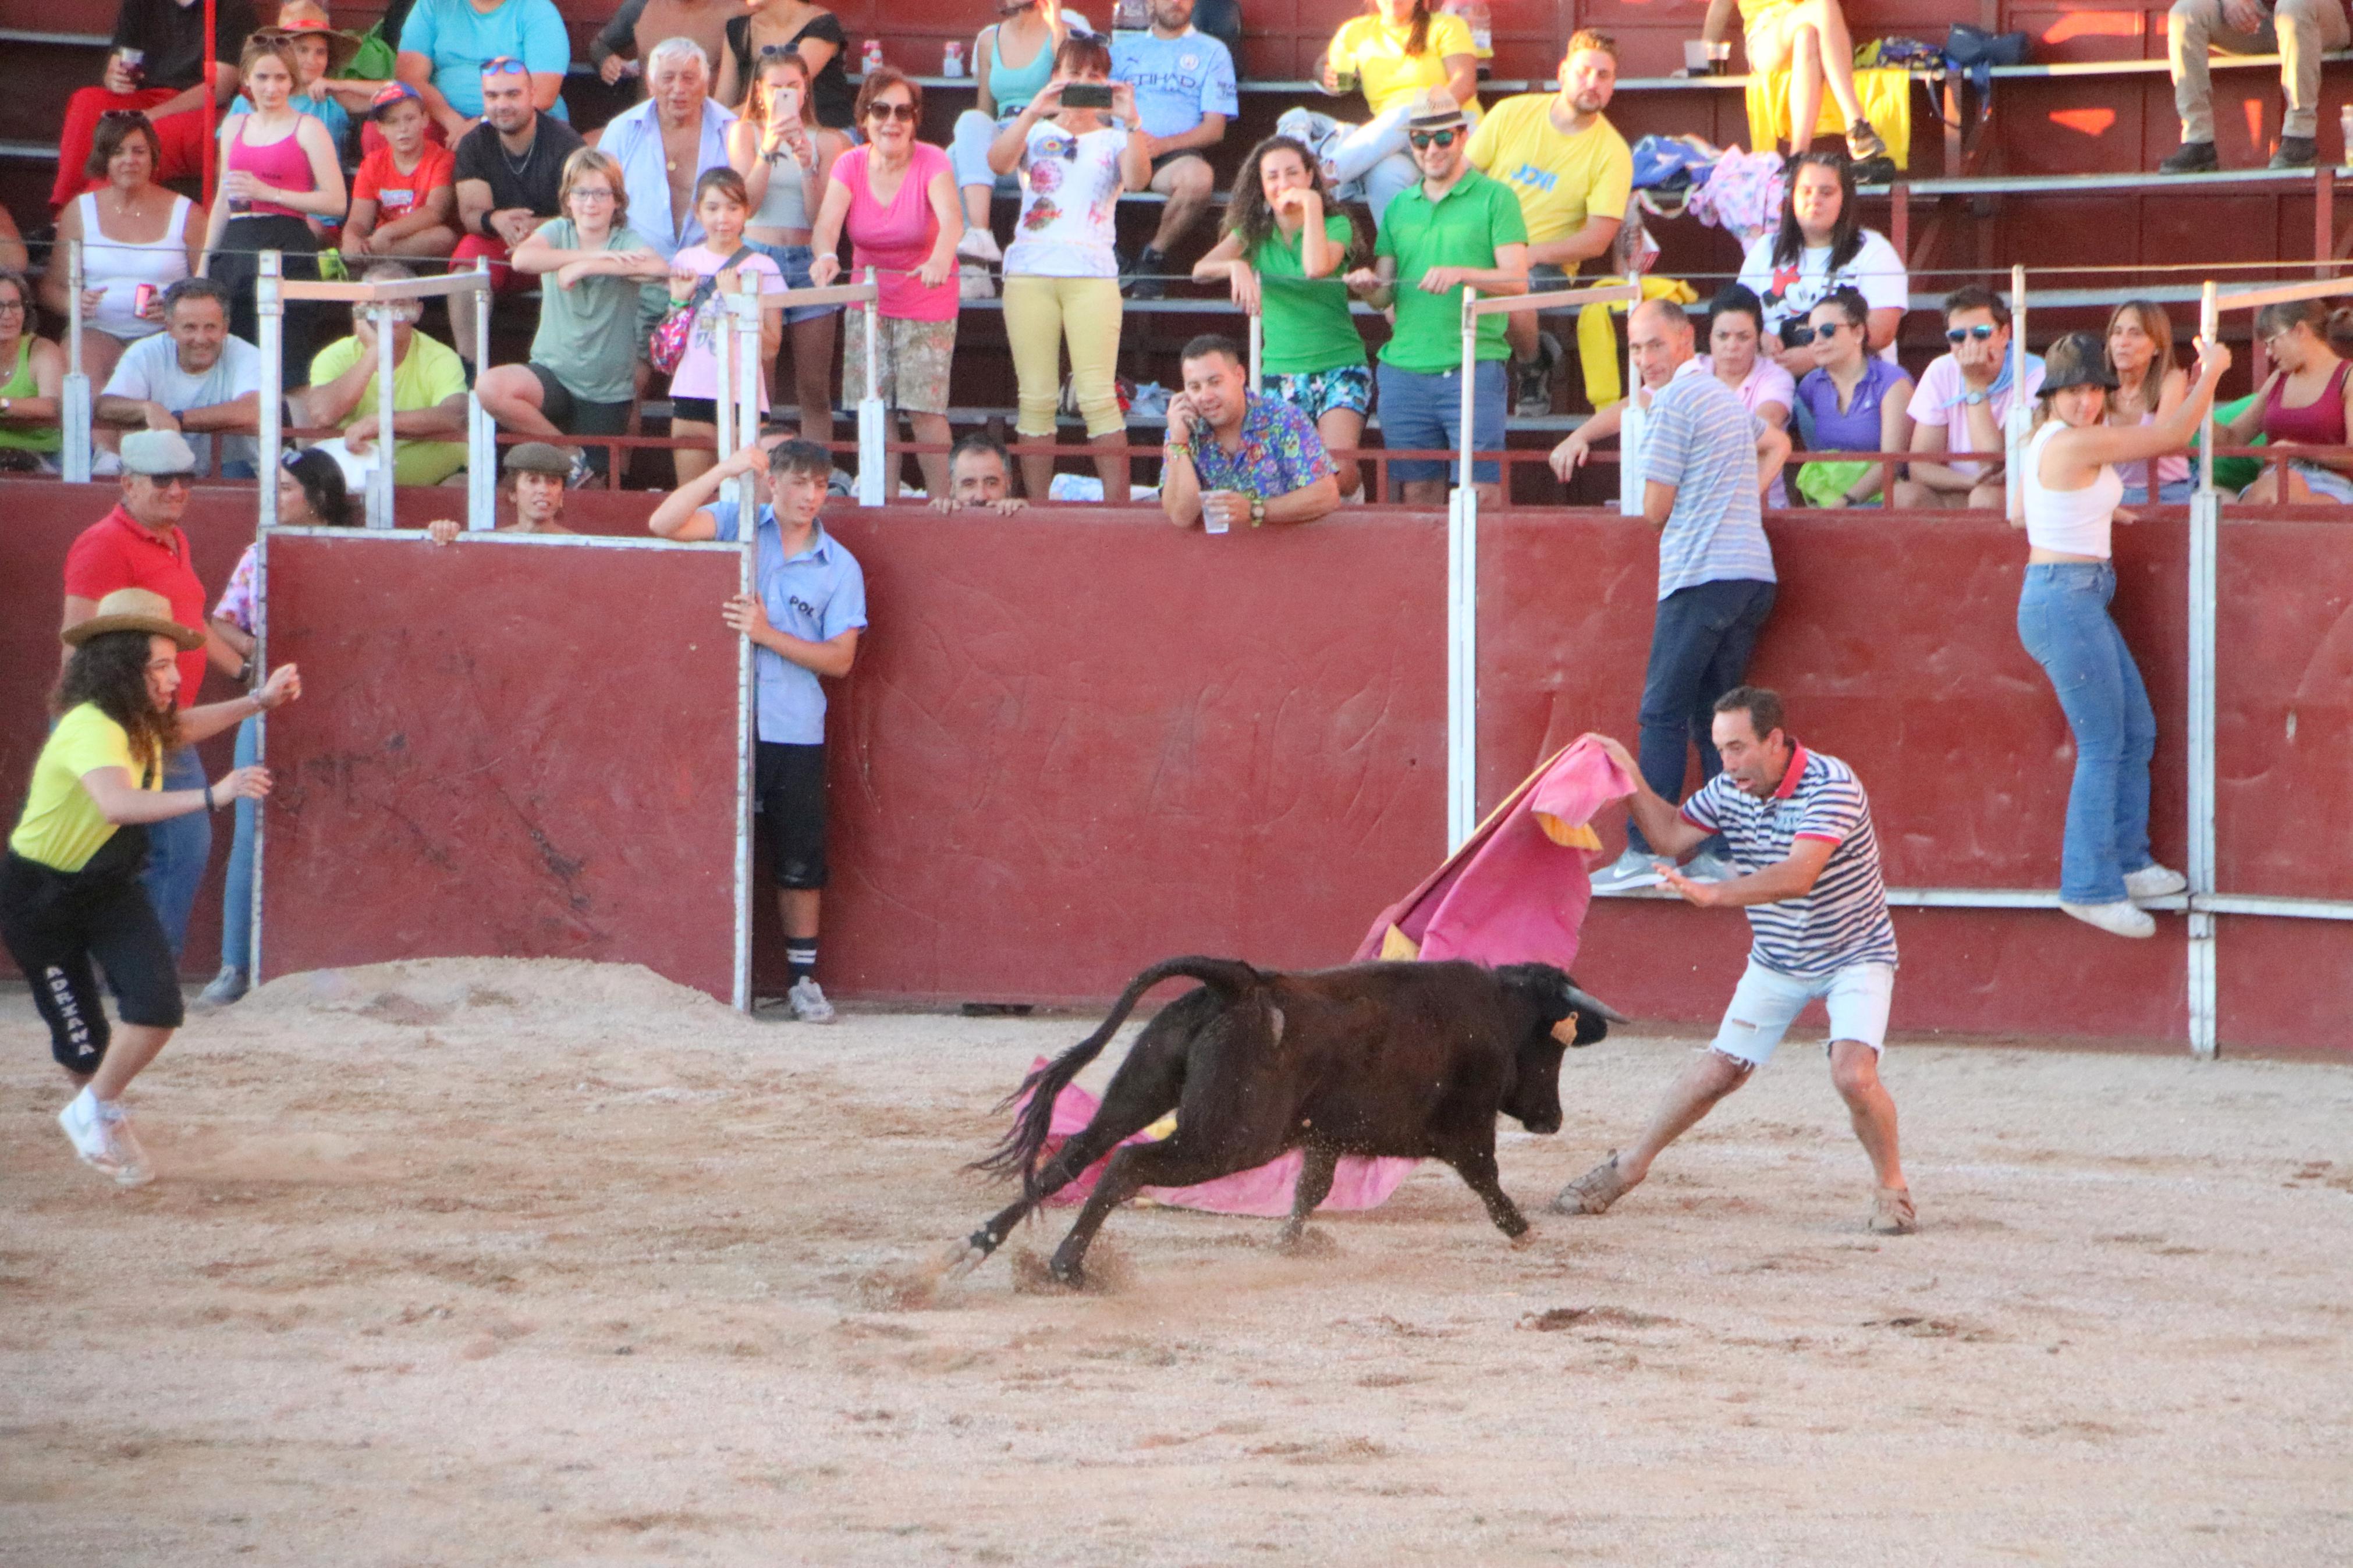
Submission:
[[[1395,926],[1421,959],[1480,964],[1577,964],[1577,938],[1593,903],[1584,849],[1555,844],[1539,816],[1584,827],[1635,780],[1609,755],[1579,741],[1529,773],[1487,813],[1461,849],[1412,893],[1381,910],[1355,959],[1381,957]]]

